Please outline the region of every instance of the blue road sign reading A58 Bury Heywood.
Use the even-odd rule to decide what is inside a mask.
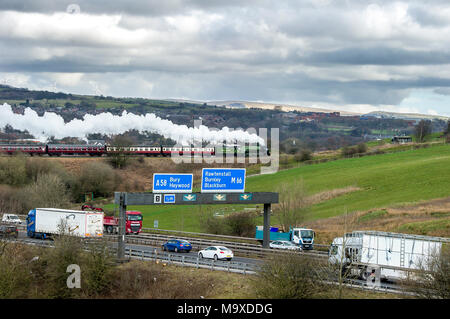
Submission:
[[[192,193],[192,174],[153,174],[153,193]]]

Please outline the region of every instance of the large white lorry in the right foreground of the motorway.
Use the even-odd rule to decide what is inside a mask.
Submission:
[[[442,244],[450,238],[389,233],[380,231],[354,231],[333,240],[329,262],[366,280],[374,269],[381,279],[398,280],[408,270],[426,269],[427,261],[440,254]]]

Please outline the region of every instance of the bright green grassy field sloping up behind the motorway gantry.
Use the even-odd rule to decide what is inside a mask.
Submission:
[[[281,183],[303,179],[309,194],[357,186],[348,193],[312,207],[308,220],[328,218],[355,211],[366,211],[400,203],[414,203],[450,196],[450,145],[399,153],[341,159],[279,171],[272,175],[247,178],[246,191],[276,191]],[[113,208],[114,205],[106,208]],[[242,207],[228,207],[227,212]],[[130,206],[144,214],[144,227],[159,221],[161,229],[201,232],[201,214],[195,206]],[[203,210],[224,210],[203,206]],[[259,207],[258,209],[261,209]],[[262,220],[261,220],[262,222]],[[276,218],[272,218],[272,224]]]

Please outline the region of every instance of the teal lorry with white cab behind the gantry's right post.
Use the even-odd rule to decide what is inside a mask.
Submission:
[[[255,238],[259,241],[263,240],[264,226],[256,226]],[[290,228],[287,233],[281,232],[278,228],[271,227],[269,232],[269,240],[286,240],[299,245],[304,250],[314,248],[315,233],[308,228]]]

